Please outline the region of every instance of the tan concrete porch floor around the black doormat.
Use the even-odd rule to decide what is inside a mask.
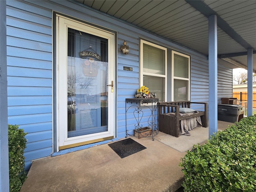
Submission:
[[[218,121],[225,130],[232,123]],[[120,158],[108,144],[35,160],[20,192],[175,192],[184,175],[180,153],[152,138],[145,150]]]

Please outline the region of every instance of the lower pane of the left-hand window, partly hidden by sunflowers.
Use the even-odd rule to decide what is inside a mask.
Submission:
[[[164,101],[164,78],[144,75],[143,85],[148,87],[149,92],[156,93],[159,101]]]

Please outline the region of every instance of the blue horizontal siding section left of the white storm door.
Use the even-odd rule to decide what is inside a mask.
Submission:
[[[24,129],[25,169],[52,153],[52,10],[6,2],[8,123]]]

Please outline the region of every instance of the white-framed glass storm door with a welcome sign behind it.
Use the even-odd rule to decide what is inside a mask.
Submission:
[[[114,37],[57,16],[59,150],[114,138]]]

